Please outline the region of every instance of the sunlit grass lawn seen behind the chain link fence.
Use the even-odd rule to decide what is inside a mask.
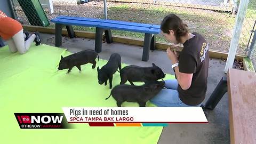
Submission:
[[[153,23],[160,25],[163,18],[170,13],[177,14],[185,23],[188,24],[190,31],[196,31],[202,34],[206,41],[211,45],[211,49],[228,51],[231,41],[230,31],[235,25],[235,18],[231,17],[227,12],[212,12],[197,9],[178,8],[172,6],[157,6],[140,4],[122,4],[110,5],[108,7],[108,18],[113,20],[139,22],[139,23]],[[98,18],[104,18],[104,15],[98,15]],[[249,8],[246,12],[246,20],[253,21],[256,18],[256,1],[250,1]],[[252,24],[251,24],[252,25]],[[74,29],[93,31],[95,28],[87,28],[74,26]],[[245,25],[243,34],[239,41],[241,51],[247,46],[250,36],[248,30],[251,30],[250,25]],[[229,31],[228,34],[226,31]],[[131,31],[112,30],[113,35],[121,35],[135,38],[144,38],[144,34],[134,33]],[[162,36],[156,36],[156,41],[166,42]]]

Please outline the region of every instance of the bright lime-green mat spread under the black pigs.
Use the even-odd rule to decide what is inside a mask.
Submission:
[[[109,85],[99,85],[97,69],[82,66],[57,71],[63,49],[49,45],[31,46],[26,54],[0,49],[0,142],[1,143],[157,143],[163,127],[90,127],[72,124],[75,129],[20,129],[13,113],[63,113],[62,107],[116,107],[108,100]],[[106,60],[97,61],[97,66]],[[124,67],[123,65],[122,67]],[[165,79],[173,78],[167,75]],[[113,86],[120,82],[119,73]],[[138,84],[138,83],[137,83]],[[125,102],[123,107],[138,107]],[[147,106],[153,106],[149,102]]]

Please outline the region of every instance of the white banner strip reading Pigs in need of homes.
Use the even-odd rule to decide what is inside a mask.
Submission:
[[[208,123],[201,107],[63,107],[69,123]]]

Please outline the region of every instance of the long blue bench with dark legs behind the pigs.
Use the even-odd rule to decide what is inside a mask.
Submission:
[[[155,50],[156,40],[154,35],[160,33],[159,25],[149,25],[116,20],[60,16],[52,19],[51,22],[55,23],[55,46],[57,47],[61,46],[62,43],[61,31],[63,27],[66,26],[70,38],[75,37],[75,33],[72,27],[73,25],[95,27],[95,51],[98,53],[101,52],[103,32],[105,33],[107,43],[113,42],[111,29],[145,33],[142,61],[148,61],[149,50]]]

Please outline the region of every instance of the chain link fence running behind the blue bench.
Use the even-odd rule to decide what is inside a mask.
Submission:
[[[26,25],[30,25],[31,23],[23,12],[18,0],[13,1],[14,9],[17,11],[19,20]],[[103,1],[39,1],[49,20],[58,15],[105,18]],[[49,2],[52,2],[53,13]],[[174,13],[188,24],[191,32],[197,31],[205,36],[211,49],[227,52],[230,46],[232,30],[235,25],[235,14],[238,7],[239,0],[108,0],[107,14],[108,19],[154,23],[159,25],[165,15]],[[31,11],[31,13],[33,13],[33,11]],[[241,37],[239,39],[237,53],[247,54],[246,48],[252,41],[250,35],[255,20],[256,1],[250,0]],[[54,27],[54,23],[50,23],[49,27]],[[75,26],[74,29],[86,31],[95,30],[94,28],[78,26]],[[113,30],[113,34],[137,38],[143,38],[144,36],[140,33],[118,30]],[[166,42],[161,36],[157,36],[156,40],[158,42]],[[253,57],[252,60],[255,64],[255,57]]]

